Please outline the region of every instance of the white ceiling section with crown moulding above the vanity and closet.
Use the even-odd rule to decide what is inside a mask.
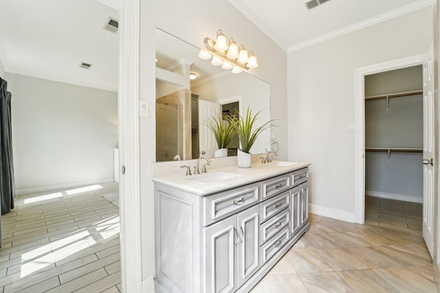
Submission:
[[[309,0],[229,0],[285,51],[353,32],[435,3],[434,0],[331,0],[307,10]]]

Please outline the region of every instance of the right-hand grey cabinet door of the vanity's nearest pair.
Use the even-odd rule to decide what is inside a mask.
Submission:
[[[260,268],[260,208],[258,205],[237,215],[239,233],[237,287],[241,287]]]

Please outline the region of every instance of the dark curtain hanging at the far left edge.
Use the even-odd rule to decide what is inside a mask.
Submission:
[[[11,93],[8,82],[0,78],[0,200],[1,214],[14,209],[15,182],[12,160]]]

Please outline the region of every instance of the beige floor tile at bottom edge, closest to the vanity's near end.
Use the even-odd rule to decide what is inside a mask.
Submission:
[[[264,293],[308,293],[297,274],[268,274],[261,280]]]

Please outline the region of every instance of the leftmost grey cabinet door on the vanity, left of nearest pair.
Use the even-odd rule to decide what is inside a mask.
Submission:
[[[234,292],[236,289],[236,215],[203,228],[203,292]]]

